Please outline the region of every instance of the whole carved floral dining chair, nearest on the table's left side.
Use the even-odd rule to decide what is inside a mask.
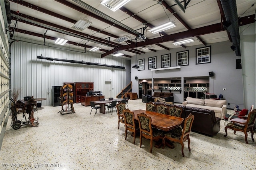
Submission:
[[[152,153],[153,140],[159,140],[163,137],[163,132],[157,128],[153,128],[151,125],[152,119],[145,113],[137,115],[140,128],[140,148],[142,145],[142,136],[146,139],[150,139],[150,153]]]

